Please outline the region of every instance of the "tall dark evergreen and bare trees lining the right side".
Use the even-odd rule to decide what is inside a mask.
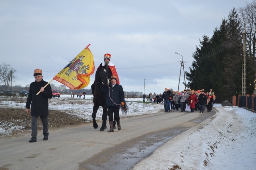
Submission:
[[[255,90],[256,1],[235,8],[215,28],[212,37],[203,35],[185,72],[190,89],[213,89],[215,94],[242,94],[243,34],[246,32],[246,94]]]

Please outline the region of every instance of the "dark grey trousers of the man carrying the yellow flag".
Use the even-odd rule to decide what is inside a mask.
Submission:
[[[41,122],[43,124],[43,135],[44,137],[48,137],[49,132],[48,132],[48,116],[40,116]],[[31,121],[31,139],[37,139],[37,121],[38,121],[38,116],[32,116],[32,121]]]

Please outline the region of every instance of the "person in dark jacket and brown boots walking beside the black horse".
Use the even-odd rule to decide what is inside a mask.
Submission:
[[[105,106],[108,108],[109,116],[109,125],[110,130],[108,132],[114,132],[114,122],[113,114],[116,120],[118,131],[121,130],[120,117],[119,117],[119,108],[120,106],[125,105],[125,94],[123,87],[116,83],[117,77],[115,75],[111,76],[111,84],[100,86],[100,91],[106,94],[106,103]]]

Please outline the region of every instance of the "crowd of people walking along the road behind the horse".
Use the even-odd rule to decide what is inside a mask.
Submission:
[[[205,92],[204,89],[202,90],[191,90],[191,89],[184,89],[183,91],[171,91],[170,89],[165,88],[165,91],[161,94],[150,93],[149,95],[143,95],[143,102],[150,102],[152,100],[154,103],[163,103],[165,107],[165,112],[174,112],[179,111],[181,112],[195,112],[198,111],[203,113],[205,109],[207,112],[211,112],[213,108],[214,100],[216,96],[212,89],[209,92]]]

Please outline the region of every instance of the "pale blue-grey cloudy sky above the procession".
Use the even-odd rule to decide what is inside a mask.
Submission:
[[[105,53],[112,55],[124,91],[176,91],[182,58],[188,71],[199,39],[211,37],[233,7],[246,2],[252,0],[2,0],[1,63],[16,69],[13,85],[33,82],[36,68],[50,81],[91,44],[96,68]]]

